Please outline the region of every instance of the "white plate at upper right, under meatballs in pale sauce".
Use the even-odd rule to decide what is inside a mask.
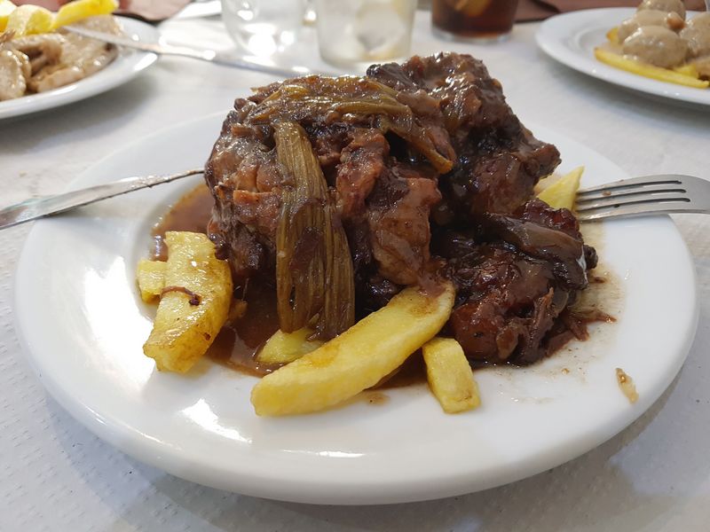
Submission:
[[[594,57],[594,49],[606,42],[606,32],[631,17],[633,8],[588,9],[564,13],[545,20],[535,38],[540,48],[553,59],[581,73],[627,89],[692,104],[710,106],[710,89],[693,89],[675,83],[659,82],[619,68],[605,65]],[[696,14],[689,12],[688,17]]]

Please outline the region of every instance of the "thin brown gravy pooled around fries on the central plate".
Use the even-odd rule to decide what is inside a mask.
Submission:
[[[193,231],[204,233],[212,215],[214,202],[207,187],[199,185],[177,200],[177,203],[154,225],[151,235],[154,243],[151,249],[155,261],[165,261],[168,249],[164,238],[166,231]],[[250,279],[245,286],[236,286],[234,297],[247,301],[244,316],[228,322],[217,334],[217,338],[207,351],[207,356],[218,364],[225,365],[239,372],[262,377],[280,366],[260,364],[256,354],[272,334],[279,330],[279,317],[276,311],[275,286],[255,282]],[[604,284],[606,279],[591,275],[588,290]],[[587,291],[585,291],[587,292]],[[591,310],[591,309],[590,309]],[[616,321],[604,312],[594,309],[589,311],[586,322]],[[490,364],[474,364],[474,369]],[[426,367],[422,351],[418,350],[404,364],[378,382],[374,388],[406,387],[426,381]]]

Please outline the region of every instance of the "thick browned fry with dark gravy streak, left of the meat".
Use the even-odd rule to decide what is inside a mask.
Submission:
[[[229,265],[206,235],[165,233],[165,286],[153,331],[143,346],[159,370],[187,372],[225,324],[232,301]]]

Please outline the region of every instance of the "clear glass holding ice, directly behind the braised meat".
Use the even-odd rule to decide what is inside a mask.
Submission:
[[[409,55],[416,0],[316,0],[320,56],[343,67]]]

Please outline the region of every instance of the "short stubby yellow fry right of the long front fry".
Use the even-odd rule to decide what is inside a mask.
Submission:
[[[481,404],[478,386],[459,342],[434,338],[422,347],[431,392],[448,414],[469,411]]]

